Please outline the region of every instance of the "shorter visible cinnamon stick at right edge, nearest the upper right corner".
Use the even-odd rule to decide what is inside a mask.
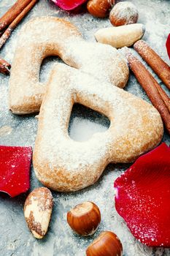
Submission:
[[[139,55],[147,62],[147,64],[153,69],[158,77],[163,81],[168,89],[170,89],[170,67],[166,64],[157,53],[155,53],[147,42],[139,40],[134,44],[134,49]]]

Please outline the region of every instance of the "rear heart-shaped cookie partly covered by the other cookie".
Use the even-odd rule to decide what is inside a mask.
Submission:
[[[20,31],[9,79],[9,108],[12,113],[39,111],[46,83],[39,82],[39,69],[47,56],[60,56],[69,66],[123,88],[128,65],[109,45],[86,42],[77,28],[55,17],[35,18]]]

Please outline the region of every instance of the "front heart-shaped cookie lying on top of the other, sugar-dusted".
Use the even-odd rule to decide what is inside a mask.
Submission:
[[[74,103],[103,113],[106,132],[90,140],[69,138]],[[80,70],[57,64],[39,114],[34,170],[42,184],[69,192],[94,184],[110,162],[131,162],[161,141],[161,116],[152,105]]]

